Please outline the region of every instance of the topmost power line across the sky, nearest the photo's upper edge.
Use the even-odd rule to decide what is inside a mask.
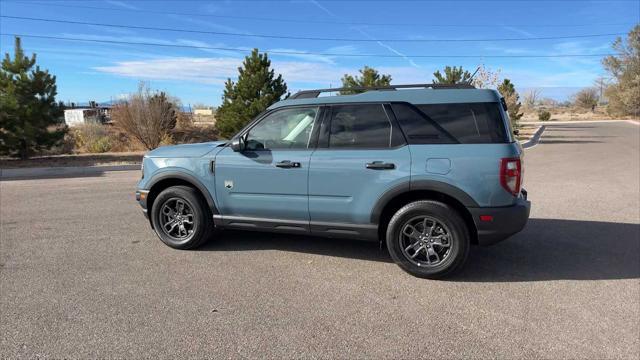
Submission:
[[[101,7],[101,6],[87,6],[87,5],[76,5],[76,4],[52,4],[52,3],[41,3],[41,2],[27,2],[30,5],[42,5],[42,6],[52,6],[52,7],[64,7],[64,8],[78,8],[78,9],[92,9],[92,10],[107,10],[107,11],[120,11],[120,12],[131,12],[131,13],[148,13],[148,14],[162,14],[162,15],[177,15],[177,16],[198,16],[198,17],[209,17],[209,18],[218,18],[218,19],[236,19],[236,20],[251,20],[251,21],[268,21],[268,22],[288,22],[288,23],[296,23],[296,24],[328,24],[328,25],[357,25],[357,26],[420,26],[420,27],[504,27],[504,26],[517,26],[517,27],[540,27],[540,28],[567,28],[567,27],[593,27],[593,26],[628,26],[633,24],[633,22],[627,23],[590,23],[590,24],[465,24],[465,23],[456,23],[456,24],[429,24],[429,23],[370,23],[370,22],[345,22],[345,21],[330,21],[330,20],[297,20],[297,19],[283,19],[283,18],[265,18],[258,16],[238,16],[238,15],[217,15],[217,14],[203,14],[203,13],[192,13],[192,12],[169,12],[169,11],[160,11],[160,10],[147,10],[147,9],[118,9],[111,7]]]

